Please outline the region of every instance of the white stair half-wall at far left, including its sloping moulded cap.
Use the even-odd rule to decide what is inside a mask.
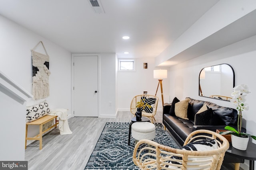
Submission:
[[[26,110],[26,100],[32,97],[32,94],[0,71],[0,108],[4,115],[0,119],[0,160],[24,160],[25,131],[17,133],[18,129],[10,127],[25,127],[26,117],[23,113]]]

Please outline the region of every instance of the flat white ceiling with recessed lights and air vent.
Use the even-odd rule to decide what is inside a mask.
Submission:
[[[156,57],[219,0],[0,0],[0,15],[71,53]],[[123,40],[122,36],[130,36]],[[128,51],[130,54],[124,55]]]

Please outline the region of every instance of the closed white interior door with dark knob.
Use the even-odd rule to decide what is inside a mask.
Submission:
[[[98,56],[74,56],[74,116],[98,117]]]

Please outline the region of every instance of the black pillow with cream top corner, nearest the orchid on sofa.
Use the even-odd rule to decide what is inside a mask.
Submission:
[[[212,108],[204,105],[195,115],[195,125],[211,125]]]

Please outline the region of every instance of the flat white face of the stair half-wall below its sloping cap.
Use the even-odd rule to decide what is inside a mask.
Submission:
[[[1,106],[1,141],[0,159],[24,160],[25,156],[25,123],[26,118],[22,114],[26,109],[26,102],[20,104],[0,91]]]

